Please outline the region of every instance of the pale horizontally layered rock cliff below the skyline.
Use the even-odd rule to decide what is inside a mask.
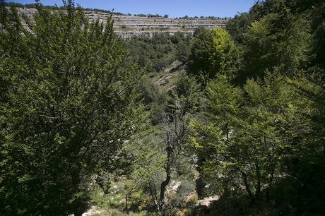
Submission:
[[[36,12],[34,8],[18,8],[18,13],[25,13],[28,17]],[[98,11],[85,11],[90,22],[99,19],[105,21],[110,17],[110,13]],[[157,32],[167,32],[173,35],[175,32],[184,32],[186,34],[193,33],[196,28],[225,28],[228,20],[213,18],[147,18],[139,16],[121,16],[113,15],[114,30],[124,38],[131,38],[133,35],[152,36]]]

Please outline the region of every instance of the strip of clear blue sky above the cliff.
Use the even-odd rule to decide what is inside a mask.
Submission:
[[[34,0],[5,0],[32,4]],[[247,12],[256,0],[75,0],[83,8],[99,8],[131,14],[160,14],[171,18],[183,16],[233,17],[238,12]],[[61,0],[41,0],[44,5],[62,5]]]

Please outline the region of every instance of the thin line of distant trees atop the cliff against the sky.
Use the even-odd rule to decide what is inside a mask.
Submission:
[[[16,3],[16,2],[4,2],[4,4],[6,4],[7,6],[15,6],[17,8],[36,8],[37,4],[20,4],[20,3]],[[55,9],[55,8],[64,8],[64,6],[43,6],[45,8],[49,8],[49,9]],[[78,8],[83,8],[81,6],[78,6]],[[109,11],[109,10],[104,10],[104,9],[97,9],[97,8],[83,8],[85,11],[96,11],[96,12],[102,12],[102,13],[112,13],[114,15],[124,15],[124,16],[139,16],[139,17],[149,17],[149,18],[169,18],[169,16],[167,14],[165,14],[164,16],[159,15],[158,13],[156,14],[143,14],[143,13],[139,13],[139,14],[134,14],[132,15],[131,13],[120,13],[120,12],[114,12],[114,11]],[[194,17],[189,17],[189,16],[183,16],[183,17],[179,17],[176,19],[204,19],[204,18],[208,18],[208,19],[218,19],[218,20],[228,20],[230,19],[230,17],[225,17],[225,18],[221,18],[219,16],[215,17],[215,16],[194,16]]]

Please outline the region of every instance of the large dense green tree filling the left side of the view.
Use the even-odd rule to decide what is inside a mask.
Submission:
[[[73,1],[37,4],[28,28],[14,7],[0,20],[0,214],[81,215],[90,175],[136,129],[141,71],[112,19],[90,24]]]

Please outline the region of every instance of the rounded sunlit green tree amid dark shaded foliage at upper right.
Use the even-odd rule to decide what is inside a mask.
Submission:
[[[261,77],[278,68],[292,76],[310,61],[311,42],[307,20],[288,8],[269,13],[244,34],[244,73]]]

